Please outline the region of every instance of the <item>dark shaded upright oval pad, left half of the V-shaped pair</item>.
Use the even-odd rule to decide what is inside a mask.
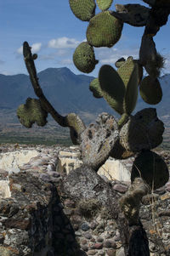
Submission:
[[[105,100],[122,115],[125,86],[122,78],[111,65],[102,65],[99,70],[99,85]]]

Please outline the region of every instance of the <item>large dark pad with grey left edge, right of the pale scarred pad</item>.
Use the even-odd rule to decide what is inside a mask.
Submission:
[[[137,112],[120,130],[120,143],[127,151],[151,150],[160,145],[164,125],[157,118],[156,109],[146,108]]]

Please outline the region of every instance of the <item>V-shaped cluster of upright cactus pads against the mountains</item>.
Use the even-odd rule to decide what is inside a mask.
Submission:
[[[99,71],[103,97],[121,115],[133,111],[138,99],[138,82],[138,65],[132,57],[123,61],[117,71],[111,65],[103,65]]]

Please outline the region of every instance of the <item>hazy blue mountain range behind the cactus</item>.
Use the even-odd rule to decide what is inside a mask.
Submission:
[[[39,72],[37,76],[43,93],[60,114],[76,112],[80,117],[85,118],[85,122],[91,122],[103,111],[118,117],[104,99],[94,98],[89,90],[89,83],[94,77],[75,75],[66,67],[48,68]],[[145,107],[156,107],[159,117],[170,117],[170,74],[161,77],[160,82],[163,91],[161,103],[148,105],[139,96],[134,112]],[[28,97],[37,98],[29,76],[24,74],[0,75],[0,111],[8,109],[16,112],[18,106],[25,104]],[[14,116],[16,117],[16,115]],[[16,122],[19,122],[17,117]]]

